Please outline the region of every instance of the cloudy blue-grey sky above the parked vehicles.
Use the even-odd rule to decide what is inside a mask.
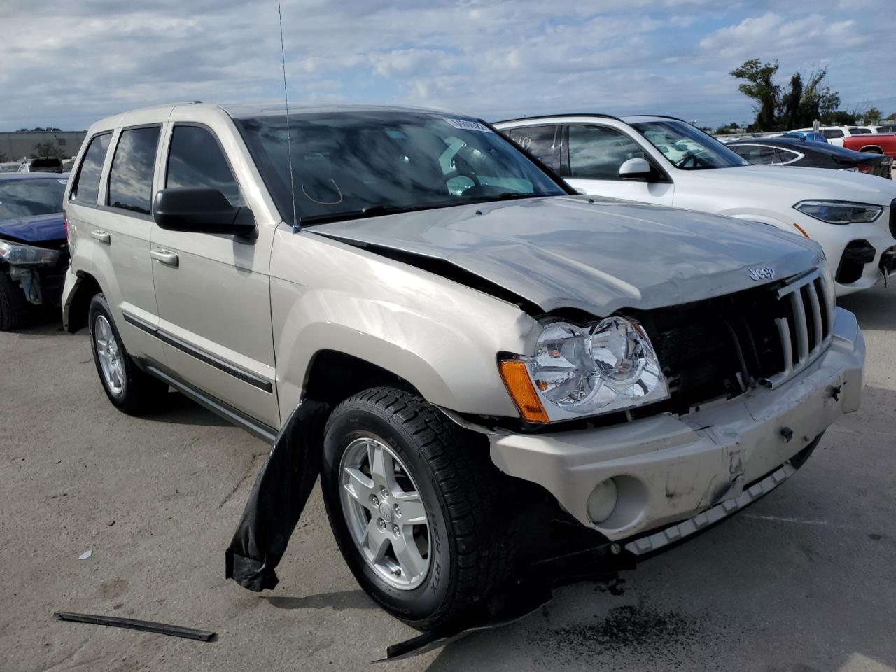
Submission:
[[[892,0],[282,0],[289,98],[496,120],[549,111],[748,121],[728,72],[827,65],[896,111]],[[0,0],[0,130],[86,128],[173,100],[281,99],[277,0]]]

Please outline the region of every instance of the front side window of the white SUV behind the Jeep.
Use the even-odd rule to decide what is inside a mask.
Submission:
[[[615,128],[569,126],[569,175],[595,180],[618,180],[619,167],[628,159],[643,159],[637,142]]]

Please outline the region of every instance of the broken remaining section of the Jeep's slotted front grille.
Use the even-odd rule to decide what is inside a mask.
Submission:
[[[826,278],[816,269],[777,291],[784,314],[775,320],[783,361],[780,373],[762,381],[766,386],[774,389],[786,383],[831,344],[834,306],[826,285]]]

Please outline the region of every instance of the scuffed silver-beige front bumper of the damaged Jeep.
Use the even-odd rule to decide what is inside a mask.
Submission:
[[[758,388],[680,417],[552,435],[491,435],[491,458],[505,473],[545,487],[583,525],[614,541],[630,538],[743,495],[746,484],[858,409],[864,362],[856,318],[837,308],[831,347],[780,388]],[[608,478],[616,484],[616,507],[594,523],[588,499]]]

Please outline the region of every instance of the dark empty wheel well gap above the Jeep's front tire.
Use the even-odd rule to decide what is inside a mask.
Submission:
[[[308,367],[305,396],[335,406],[353,394],[378,385],[392,385],[422,397],[404,378],[382,366],[336,350],[321,350]]]

